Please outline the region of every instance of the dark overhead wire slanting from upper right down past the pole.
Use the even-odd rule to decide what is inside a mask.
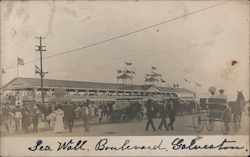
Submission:
[[[144,30],[147,30],[147,29],[150,29],[150,28],[159,26],[159,25],[163,25],[163,24],[169,23],[169,22],[172,22],[172,21],[175,21],[175,20],[184,18],[184,17],[186,17],[186,16],[190,16],[190,15],[193,15],[193,14],[196,14],[196,13],[199,13],[199,12],[202,12],[202,11],[205,11],[205,10],[208,10],[208,9],[211,9],[211,8],[214,8],[214,7],[223,5],[223,4],[225,4],[225,3],[227,3],[227,2],[221,2],[221,3],[214,4],[214,5],[210,5],[210,6],[206,7],[206,8],[199,9],[199,10],[196,10],[196,11],[193,11],[193,12],[190,12],[190,13],[187,13],[187,14],[185,14],[185,15],[178,16],[178,17],[175,17],[175,18],[172,18],[172,19],[168,19],[168,20],[166,20],[166,21],[163,21],[163,22],[160,22],[160,23],[157,23],[157,24],[153,24],[153,25],[150,25],[150,26],[141,28],[141,29],[137,29],[137,30],[135,30],[135,31],[131,31],[131,32],[128,32],[128,33],[119,35],[119,36],[115,36],[115,37],[112,37],[112,38],[109,38],[109,39],[106,39],[106,40],[102,40],[102,41],[99,41],[99,42],[95,42],[95,43],[92,43],[92,44],[89,44],[89,45],[86,45],[86,46],[82,46],[82,47],[75,48],[75,49],[72,49],[72,50],[64,51],[64,52],[57,53],[57,54],[54,54],[54,55],[46,56],[46,57],[43,57],[43,59],[48,59],[48,58],[52,58],[52,57],[56,57],[56,56],[61,56],[61,55],[64,55],[64,54],[73,53],[73,52],[78,51],[78,50],[81,50],[81,49],[86,49],[86,48],[94,47],[94,46],[97,46],[97,45],[101,45],[101,44],[103,44],[103,43],[106,43],[106,42],[109,42],[109,41],[112,41],[112,40],[116,40],[116,39],[120,39],[120,38],[123,38],[123,37],[125,37],[125,36],[131,35],[131,34],[135,34],[135,33],[138,33],[138,32],[142,32],[142,31],[144,31]],[[35,60],[32,60],[32,61],[26,62],[25,64],[34,63],[34,62],[36,62],[36,61],[38,61],[38,60],[39,60],[39,59],[35,59]],[[12,66],[12,67],[5,68],[5,70],[9,70],[9,69],[12,69],[12,68],[16,68],[16,66]]]

